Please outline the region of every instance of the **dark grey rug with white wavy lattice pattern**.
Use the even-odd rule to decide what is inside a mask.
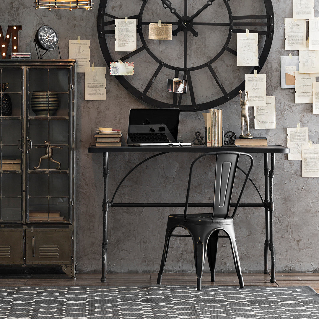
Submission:
[[[310,287],[0,287],[0,318],[319,318]]]

